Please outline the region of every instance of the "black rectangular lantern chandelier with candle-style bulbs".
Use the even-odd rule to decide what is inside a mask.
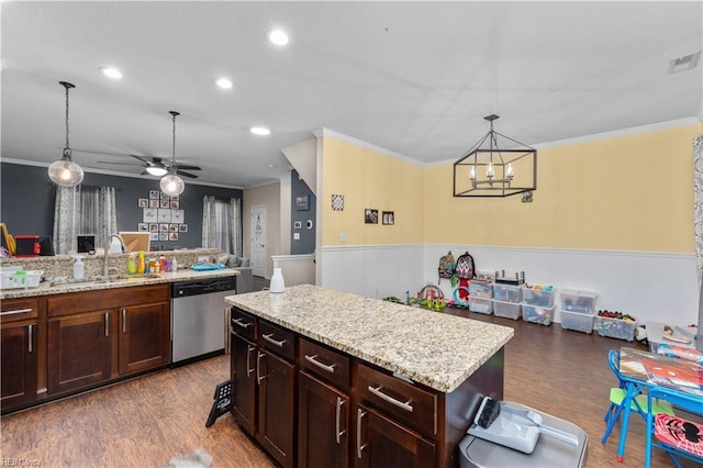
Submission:
[[[510,197],[537,189],[537,149],[491,130],[454,163],[455,197]],[[499,143],[499,137],[502,142]]]

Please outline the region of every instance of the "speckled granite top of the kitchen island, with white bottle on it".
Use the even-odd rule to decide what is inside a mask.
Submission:
[[[442,392],[451,392],[514,332],[503,325],[311,285],[225,302]]]

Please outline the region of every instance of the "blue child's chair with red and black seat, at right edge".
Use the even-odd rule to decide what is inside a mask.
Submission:
[[[665,387],[651,388],[647,400],[669,402],[683,411],[703,416],[703,397]],[[651,408],[651,406],[650,406]],[[651,464],[651,447],[665,450],[677,468],[678,457],[703,464],[703,424],[669,414],[647,412],[647,445],[645,467]]]

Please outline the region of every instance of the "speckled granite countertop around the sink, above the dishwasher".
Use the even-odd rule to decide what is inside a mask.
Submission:
[[[119,277],[110,281],[86,280],[75,282],[44,281],[36,288],[5,289],[0,293],[0,299],[33,298],[37,296],[63,294],[67,292],[97,291],[101,289],[131,288],[135,286],[158,285],[164,282],[189,281],[193,279],[208,279],[237,276],[239,271],[234,269],[194,271],[182,269],[172,272],[161,272],[157,276]]]

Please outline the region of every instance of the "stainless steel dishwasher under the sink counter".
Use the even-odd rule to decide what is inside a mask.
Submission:
[[[175,282],[171,289],[171,366],[224,353],[226,296],[235,277]]]

